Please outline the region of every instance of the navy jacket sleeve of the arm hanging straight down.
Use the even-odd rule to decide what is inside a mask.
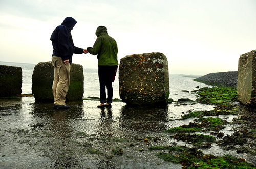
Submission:
[[[70,31],[66,29],[65,27],[60,27],[58,31],[58,46],[59,46],[59,52],[61,54],[61,58],[63,61],[69,59],[69,36]]]

